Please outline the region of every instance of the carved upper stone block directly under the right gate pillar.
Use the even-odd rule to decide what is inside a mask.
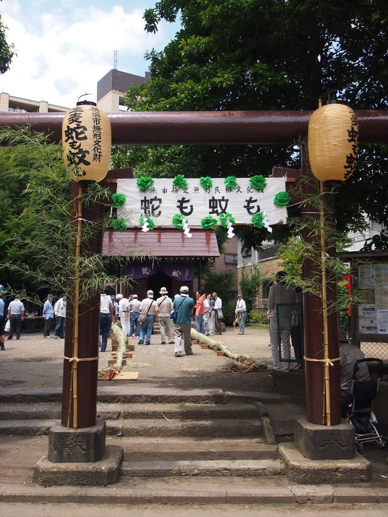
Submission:
[[[355,455],[354,427],[345,420],[326,427],[297,418],[294,442],[302,456],[310,460],[351,460]]]

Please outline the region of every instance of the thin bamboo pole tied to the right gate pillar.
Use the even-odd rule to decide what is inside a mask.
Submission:
[[[329,370],[329,332],[327,329],[327,289],[326,289],[326,242],[325,242],[325,216],[323,202],[323,181],[320,181],[319,217],[321,233],[321,271],[322,271],[322,308],[323,308],[323,358],[325,359],[325,406],[326,406],[326,425],[331,427],[330,413],[330,370]],[[323,415],[324,416],[324,415]],[[324,422],[322,422],[324,423]]]

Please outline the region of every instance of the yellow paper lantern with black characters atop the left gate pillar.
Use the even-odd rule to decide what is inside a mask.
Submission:
[[[95,102],[77,102],[62,123],[63,159],[74,181],[101,181],[109,171],[112,130]]]

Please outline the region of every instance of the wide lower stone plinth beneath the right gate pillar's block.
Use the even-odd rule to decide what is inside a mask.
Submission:
[[[278,458],[283,464],[283,473],[299,484],[364,483],[372,474],[371,464],[357,453],[351,460],[311,460],[294,444],[279,444]]]

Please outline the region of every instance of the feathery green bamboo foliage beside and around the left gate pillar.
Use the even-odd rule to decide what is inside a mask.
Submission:
[[[31,131],[0,128],[0,278],[12,292],[39,303],[48,292],[66,292],[74,302],[76,266],[81,279],[80,302],[105,290],[105,285],[124,282],[121,257],[101,257],[91,250],[74,259],[77,224],[72,211],[71,179],[65,171],[62,146]],[[109,191],[98,184],[84,189],[82,205],[109,200]],[[82,224],[81,242],[107,226],[107,217]],[[130,243],[128,243],[130,249]],[[137,258],[135,254],[131,255]]]

